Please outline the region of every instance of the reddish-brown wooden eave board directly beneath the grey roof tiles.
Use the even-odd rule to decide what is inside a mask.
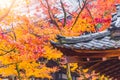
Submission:
[[[64,49],[60,48],[60,51],[63,52],[66,56],[79,56],[80,58],[109,58],[109,57],[119,57],[120,56],[120,49],[116,50],[103,50],[103,51],[88,51],[84,50],[83,52],[76,52],[72,49]]]

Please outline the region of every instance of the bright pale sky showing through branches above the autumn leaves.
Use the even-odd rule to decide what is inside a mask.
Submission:
[[[0,9],[1,8],[8,8],[13,0],[0,0]],[[14,10],[16,15],[26,15],[28,17],[34,17],[37,19],[45,18],[45,15],[42,14],[42,9],[39,11],[36,11],[36,7],[40,7],[39,0],[28,0],[30,5],[27,7],[26,0],[16,0],[14,4]],[[43,0],[44,1],[44,0]],[[63,0],[63,2],[70,5],[69,11],[72,12],[78,8],[78,0]],[[60,3],[59,3],[60,4]],[[56,4],[58,5],[58,4]],[[30,13],[28,13],[28,9],[30,10]],[[61,11],[63,12],[63,11]],[[35,15],[36,14],[36,15]],[[58,18],[63,18],[63,14],[56,14]]]

